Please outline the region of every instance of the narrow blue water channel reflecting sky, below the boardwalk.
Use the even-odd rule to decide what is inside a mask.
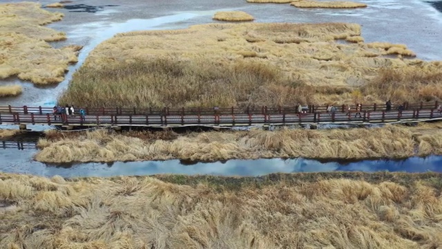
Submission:
[[[363,160],[353,163],[320,162],[295,158],[227,160],[226,162],[184,165],[180,160],[81,163],[73,166],[48,166],[32,160],[36,150],[1,149],[0,172],[39,176],[144,176],[153,174],[210,174],[215,176],[261,176],[270,173],[296,172],[442,172],[442,156],[405,160]]]

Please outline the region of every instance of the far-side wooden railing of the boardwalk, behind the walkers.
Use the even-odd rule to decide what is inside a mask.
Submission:
[[[419,102],[419,103],[408,103],[402,104],[404,110],[414,110],[414,109],[436,109],[439,106],[439,102]],[[392,109],[396,109],[399,104],[395,104]],[[327,112],[326,105],[315,105],[308,104],[303,106],[303,111],[307,113],[323,113]],[[347,112],[347,105],[336,105],[337,111]],[[187,116],[187,115],[238,115],[238,114],[290,114],[298,113],[298,107],[293,106],[279,106],[279,107],[213,107],[213,108],[202,108],[202,107],[182,107],[182,108],[88,108],[84,107],[86,115],[157,115],[157,116]],[[352,111],[356,110],[356,105],[350,105]],[[361,111],[385,111],[387,106],[385,104],[362,104]],[[53,107],[0,107],[0,113],[37,113],[46,114],[52,113]],[[79,107],[75,108],[75,112],[78,113]]]

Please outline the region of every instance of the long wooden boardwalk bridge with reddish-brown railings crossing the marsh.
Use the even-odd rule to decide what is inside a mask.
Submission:
[[[253,125],[291,124],[361,124],[386,122],[412,122],[441,119],[438,102],[403,104],[403,110],[393,108],[387,111],[385,104],[369,104],[361,107],[356,115],[356,106],[336,107],[336,113],[327,112],[326,106],[313,104],[303,107],[305,113],[298,113],[297,107],[260,108],[181,108],[181,109],[122,109],[79,108],[74,115],[54,115],[52,107],[0,107],[0,124],[46,124],[64,127],[244,127]]]

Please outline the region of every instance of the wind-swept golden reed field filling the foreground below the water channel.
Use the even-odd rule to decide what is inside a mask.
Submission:
[[[0,174],[0,247],[439,248],[440,179]]]

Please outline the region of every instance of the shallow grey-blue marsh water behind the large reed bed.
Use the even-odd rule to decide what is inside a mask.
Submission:
[[[6,1],[2,1],[6,2]],[[8,1],[19,2],[19,1]],[[44,6],[53,1],[40,1]],[[84,62],[97,44],[116,33],[131,30],[186,28],[193,24],[213,22],[211,17],[219,10],[243,10],[253,15],[257,22],[355,22],[363,26],[365,42],[392,42],[407,44],[425,60],[442,59],[439,41],[442,40],[441,1],[423,0],[362,0],[368,8],[354,10],[299,9],[289,4],[257,4],[243,0],[227,1],[73,1],[66,8],[49,9],[65,14],[62,21],[48,27],[67,33],[65,42],[52,43],[84,46],[79,62],[70,67],[66,80],[56,86],[37,88],[21,82],[23,93],[16,98],[1,98],[0,105],[12,104],[53,106],[57,96],[66,89],[72,73]],[[439,9],[439,11],[438,11]],[[17,82],[16,79],[0,84]]]

